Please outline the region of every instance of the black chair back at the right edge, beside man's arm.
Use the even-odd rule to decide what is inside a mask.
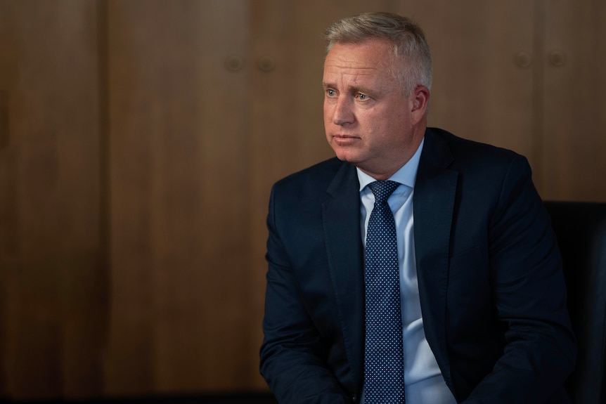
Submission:
[[[574,404],[606,404],[606,203],[545,202],[562,252],[576,369]]]

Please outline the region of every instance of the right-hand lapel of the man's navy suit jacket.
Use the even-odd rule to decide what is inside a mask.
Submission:
[[[458,173],[446,169],[453,157],[446,141],[430,129],[415,182],[415,255],[425,337],[446,384],[451,384],[446,350],[446,286]]]

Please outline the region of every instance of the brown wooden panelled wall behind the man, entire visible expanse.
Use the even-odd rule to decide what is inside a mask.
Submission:
[[[0,396],[265,389],[265,216],[332,155],[323,29],[410,15],[430,124],[606,200],[605,6],[584,0],[0,0]]]

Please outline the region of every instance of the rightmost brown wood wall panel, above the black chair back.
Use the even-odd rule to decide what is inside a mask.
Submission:
[[[545,197],[606,200],[604,1],[545,1]]]

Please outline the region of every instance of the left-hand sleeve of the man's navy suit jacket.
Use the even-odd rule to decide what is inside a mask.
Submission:
[[[282,210],[282,209],[280,209]],[[276,218],[271,190],[260,371],[279,403],[352,403],[325,362],[327,347],[306,311]],[[281,228],[283,228],[281,226]],[[296,232],[296,228],[290,231]]]

